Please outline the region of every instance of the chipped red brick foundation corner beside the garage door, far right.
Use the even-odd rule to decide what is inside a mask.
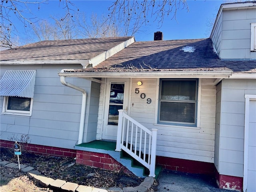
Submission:
[[[215,170],[215,178],[216,178],[218,187],[221,189],[237,190],[240,192],[243,191],[243,178],[242,177],[221,175],[218,173],[217,170]]]

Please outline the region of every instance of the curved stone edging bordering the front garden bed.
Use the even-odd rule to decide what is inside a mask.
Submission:
[[[7,161],[1,161],[0,166],[19,169],[18,164],[10,163]],[[84,185],[78,185],[76,183],[66,182],[60,179],[54,180],[52,178],[42,176],[39,171],[35,170],[31,166],[26,166],[24,164],[20,164],[20,170],[21,172],[26,173],[30,179],[39,182],[42,186],[49,187],[54,190],[60,190],[63,192],[147,192],[154,183],[153,177],[146,177],[144,181],[136,187],[124,187],[122,189],[113,187],[106,190],[105,188],[94,188]]]

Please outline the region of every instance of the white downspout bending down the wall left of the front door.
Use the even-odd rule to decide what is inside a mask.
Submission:
[[[61,72],[63,72],[63,71],[61,71]],[[84,134],[84,118],[85,118],[87,93],[84,89],[82,89],[78,86],[75,86],[71,83],[66,82],[66,77],[64,77],[64,76],[60,76],[60,82],[65,86],[68,86],[70,88],[73,88],[75,90],[82,92],[82,94],[83,94],[82,106],[81,106],[81,116],[80,116],[80,126],[79,126],[79,134],[78,134],[78,144],[81,144],[83,142],[83,134]]]

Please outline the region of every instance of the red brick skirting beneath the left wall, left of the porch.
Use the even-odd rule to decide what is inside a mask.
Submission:
[[[0,140],[0,146],[6,148],[13,148],[14,142]],[[27,150],[34,154],[39,155],[52,155],[52,156],[64,156],[64,157],[76,157],[76,150],[74,149],[66,149],[59,147],[51,147],[44,145],[36,145],[36,144],[26,144],[21,143],[21,150]]]

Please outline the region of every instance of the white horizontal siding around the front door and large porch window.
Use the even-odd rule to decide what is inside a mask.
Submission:
[[[118,80],[118,79],[117,79]],[[198,88],[198,127],[157,124],[159,79],[132,79],[129,91],[128,115],[146,128],[158,129],[158,156],[214,162],[216,86],[215,79],[199,79]],[[141,81],[142,86],[137,82]],[[136,94],[135,89],[140,93]],[[146,97],[140,98],[144,93]],[[147,103],[150,98],[152,102]],[[101,86],[97,139],[100,139],[104,84]]]

